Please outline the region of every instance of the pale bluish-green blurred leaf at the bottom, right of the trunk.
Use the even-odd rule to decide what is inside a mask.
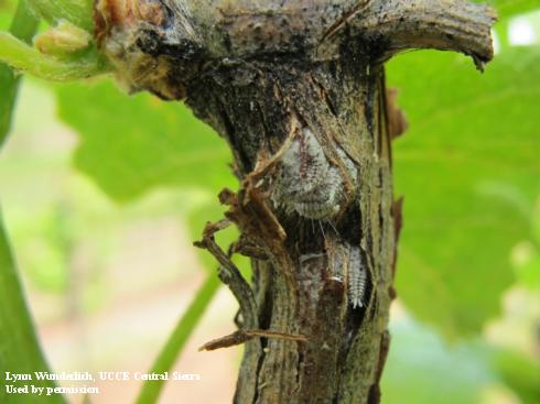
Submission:
[[[449,347],[436,332],[409,318],[393,323],[391,334],[384,403],[478,404],[482,390],[497,379],[480,343]]]

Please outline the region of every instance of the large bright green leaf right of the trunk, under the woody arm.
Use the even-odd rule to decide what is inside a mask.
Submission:
[[[406,195],[397,285],[446,336],[478,331],[512,281],[509,253],[540,195],[540,48],[497,55],[485,75],[449,53],[409,53],[389,83],[410,130],[396,142]]]

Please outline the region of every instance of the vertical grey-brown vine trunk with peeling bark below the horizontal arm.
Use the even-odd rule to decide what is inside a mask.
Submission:
[[[239,77],[249,79],[240,84]],[[225,67],[197,83],[191,94],[190,106],[231,145],[240,178],[267,163],[258,160],[260,150],[276,155],[302,127],[322,139],[332,133],[330,148],[348,144],[357,151],[355,189],[335,217],[305,218],[272,209],[263,192],[249,189],[249,182],[244,190],[251,194],[249,201],[229,201],[227,216],[242,233],[236,250],[256,255],[257,324],[249,328],[305,337],[299,342],[247,342],[236,401],[361,403],[369,396],[377,402],[389,343],[399,222],[382,69],[366,72],[349,61],[255,62]],[[353,265],[364,265],[368,273],[361,307],[350,304],[348,277],[358,270]]]

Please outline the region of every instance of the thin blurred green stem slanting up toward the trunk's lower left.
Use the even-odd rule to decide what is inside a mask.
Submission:
[[[162,351],[158,356],[158,359],[150,371],[151,373],[163,373],[172,369],[176,362],[176,359],[182,352],[185,342],[192,335],[195,326],[201,320],[204,312],[214,298],[219,285],[220,283],[216,275],[208,275],[190,307],[187,307],[187,310],[176,325],[176,328],[163,347]],[[137,404],[156,403],[163,385],[164,381],[162,380],[144,382],[139,397],[137,398]]]

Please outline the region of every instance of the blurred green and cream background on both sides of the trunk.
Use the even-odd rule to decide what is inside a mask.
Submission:
[[[388,66],[410,130],[395,143],[404,228],[385,404],[540,403],[540,9],[498,1],[496,58],[410,52]],[[12,15],[0,1],[0,29]],[[180,103],[110,78],[25,79],[0,156],[4,223],[54,371],[148,371],[207,276],[196,251],[236,188],[230,154]],[[234,233],[224,236],[226,244]],[[246,266],[246,262],[240,262]],[[220,288],[160,403],[230,403],[241,349]],[[100,382],[93,403],[140,384]],[[82,397],[68,397],[80,403]]]

